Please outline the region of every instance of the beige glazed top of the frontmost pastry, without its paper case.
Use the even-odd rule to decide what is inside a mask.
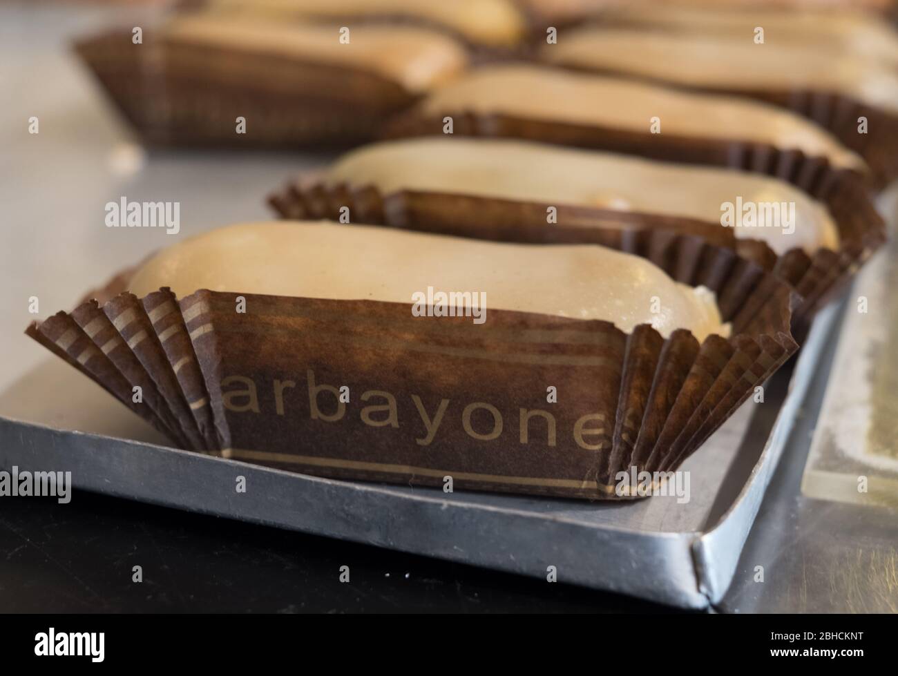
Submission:
[[[389,270],[388,275],[384,270]],[[674,282],[646,259],[600,246],[541,247],[364,225],[278,221],[219,228],[169,247],[137,270],[131,293],[169,286],[411,303],[427,287],[486,294],[497,310],[611,321],[663,336],[726,335],[711,292]],[[652,311],[652,297],[660,311]]]

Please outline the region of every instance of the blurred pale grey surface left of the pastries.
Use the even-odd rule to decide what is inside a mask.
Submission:
[[[154,8],[0,4],[0,391],[48,356],[23,334],[36,319],[31,296],[40,318],[69,310],[176,238],[273,217],[268,192],[321,163],[298,154],[144,153],[70,45],[108,26],[151,30],[162,17]],[[31,116],[39,134],[29,134]],[[180,201],[180,234],[107,228],[104,206],[122,197]]]

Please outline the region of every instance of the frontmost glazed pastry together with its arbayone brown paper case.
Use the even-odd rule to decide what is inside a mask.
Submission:
[[[645,493],[621,471],[676,470],[797,350],[787,285],[729,250],[646,234],[636,257],[233,225],[160,251],[134,293],[27,333],[181,448],[330,478],[631,499]],[[439,299],[453,293],[489,312],[437,312],[458,308]]]

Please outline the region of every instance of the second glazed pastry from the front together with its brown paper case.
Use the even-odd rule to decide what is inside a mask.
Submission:
[[[683,235],[772,270],[801,296],[793,317],[806,323],[885,240],[856,175],[829,169],[821,177],[812,193],[773,173],[444,136],[352,151],[269,204],[288,219],[349,216],[493,241],[637,251]]]

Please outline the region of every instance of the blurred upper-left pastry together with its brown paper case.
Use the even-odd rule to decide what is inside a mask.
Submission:
[[[420,26],[221,13],[77,50],[149,143],[283,149],[360,143],[468,64],[462,43]]]

